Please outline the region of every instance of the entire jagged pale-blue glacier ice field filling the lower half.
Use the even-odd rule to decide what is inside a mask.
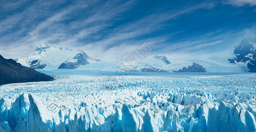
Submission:
[[[256,131],[253,73],[42,72],[0,86],[0,132]]]

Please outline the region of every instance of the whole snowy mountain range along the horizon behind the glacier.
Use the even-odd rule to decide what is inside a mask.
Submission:
[[[245,37],[234,49],[234,54],[206,59],[187,59],[177,56],[168,58],[155,55],[141,59],[136,66],[126,60],[102,61],[93,59],[84,51],[56,48],[50,44],[40,44],[31,56],[19,59],[23,66],[34,69],[80,69],[129,72],[256,72],[255,37]],[[231,55],[233,54],[233,55]],[[231,56],[235,56],[232,58]],[[192,65],[191,65],[192,64]],[[124,65],[124,67],[120,67]]]

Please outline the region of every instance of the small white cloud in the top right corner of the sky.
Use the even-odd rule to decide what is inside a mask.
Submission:
[[[256,0],[227,0],[225,4],[231,4],[233,6],[242,7],[245,5],[256,6]]]

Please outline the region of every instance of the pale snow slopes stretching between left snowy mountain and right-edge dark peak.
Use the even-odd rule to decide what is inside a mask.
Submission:
[[[186,59],[186,58],[168,58],[171,64],[166,64],[164,61],[160,59],[156,59],[153,57],[148,57],[143,59],[138,66],[133,68],[126,61],[101,61],[96,63],[91,63],[85,66],[80,66],[78,69],[80,70],[105,70],[105,71],[119,71],[118,66],[125,64],[130,70],[141,71],[141,69],[146,67],[154,67],[160,70],[165,70],[168,72],[172,72],[173,70],[179,70],[183,67],[191,66],[193,62],[204,66],[207,72],[223,72],[223,73],[243,73],[248,72],[248,68],[244,65],[233,65],[228,61],[229,57],[209,57],[206,59]]]

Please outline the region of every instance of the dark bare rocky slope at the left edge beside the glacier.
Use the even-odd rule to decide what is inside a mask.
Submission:
[[[0,55],[0,85],[33,81],[53,81],[53,77],[22,66],[13,59]]]

